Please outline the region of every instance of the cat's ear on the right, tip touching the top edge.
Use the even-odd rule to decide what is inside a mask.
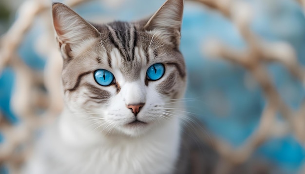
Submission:
[[[176,47],[180,44],[184,0],[167,0],[148,20],[144,29],[154,31]]]

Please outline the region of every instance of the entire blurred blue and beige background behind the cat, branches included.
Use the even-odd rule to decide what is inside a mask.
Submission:
[[[148,17],[164,1],[61,2],[101,23]],[[0,0],[0,174],[17,171],[37,130],[62,107],[50,6]],[[301,0],[186,0],[184,100],[228,170],[258,160],[274,169],[267,173],[305,174],[304,7]]]

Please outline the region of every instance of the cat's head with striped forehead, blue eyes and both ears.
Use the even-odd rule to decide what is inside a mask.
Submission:
[[[167,0],[151,18],[102,25],[53,4],[66,107],[107,134],[139,136],[177,119],[186,87],[183,4]]]

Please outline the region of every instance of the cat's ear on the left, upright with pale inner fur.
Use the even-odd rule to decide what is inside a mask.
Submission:
[[[76,56],[77,50],[81,50],[86,41],[100,37],[94,26],[62,3],[53,3],[52,17],[57,43],[64,59]]]

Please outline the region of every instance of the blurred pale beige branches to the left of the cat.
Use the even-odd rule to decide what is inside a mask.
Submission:
[[[88,0],[66,0],[64,3],[74,7]],[[0,38],[0,74],[6,66],[11,66],[16,73],[15,90],[11,99],[11,106],[15,114],[18,115],[20,122],[18,125],[11,125],[3,121],[0,116],[0,132],[4,137],[4,142],[0,143],[0,164],[6,163],[10,171],[18,171],[19,164],[24,161],[32,151],[32,146],[25,146],[21,152],[16,154],[16,149],[33,142],[34,132],[41,126],[50,123],[55,118],[54,114],[62,108],[62,99],[60,92],[60,54],[56,49],[53,40],[44,40],[47,42],[47,65],[46,76],[50,83],[45,83],[49,90],[48,96],[41,90],[35,90],[43,85],[43,75],[30,69],[17,55],[17,49],[22,42],[24,35],[31,28],[34,19],[38,16],[44,17],[45,21],[50,23],[50,15],[42,16],[42,12],[51,10],[49,0],[26,0],[19,7],[19,14],[16,21],[6,34]],[[53,38],[53,30],[46,31],[46,38]],[[50,60],[49,60],[50,59]],[[52,63],[50,63],[52,62]],[[53,74],[53,75],[52,75]],[[57,74],[57,75],[54,75]],[[59,74],[59,75],[58,75]],[[58,82],[57,82],[58,81]],[[57,87],[58,86],[58,87]],[[48,102],[48,98],[50,103]],[[47,108],[48,107],[48,108]],[[46,110],[44,116],[39,116],[35,112],[37,109]]]

